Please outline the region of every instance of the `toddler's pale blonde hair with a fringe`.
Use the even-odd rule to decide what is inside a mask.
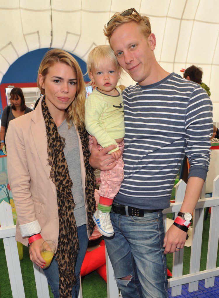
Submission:
[[[87,62],[87,74],[90,77],[90,73],[92,70],[98,69],[98,67],[104,64],[104,60],[107,59],[111,63],[114,63],[118,70],[122,72],[122,67],[119,65],[117,58],[108,45],[96,46],[88,55],[88,62]],[[91,79],[91,77],[90,77]]]

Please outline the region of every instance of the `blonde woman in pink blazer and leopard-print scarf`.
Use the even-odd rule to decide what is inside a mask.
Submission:
[[[36,109],[11,121],[6,135],[16,240],[29,242],[30,259],[41,268],[42,243],[55,242],[57,251],[45,275],[54,297],[75,298],[95,211],[85,84],[77,61],[53,49],[40,64],[37,85],[44,96]]]

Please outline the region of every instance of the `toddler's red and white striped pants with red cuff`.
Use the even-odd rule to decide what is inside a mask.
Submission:
[[[89,136],[90,151],[92,146],[93,146],[93,139],[91,136]],[[121,152],[123,153],[124,141],[122,141],[121,143],[118,143],[118,146]],[[98,150],[104,149],[99,144],[97,145],[97,148]],[[122,154],[121,154],[120,158],[116,160],[116,166],[113,169],[108,171],[101,171],[100,173],[101,184],[99,186],[100,204],[108,205],[108,206],[113,204],[113,199],[119,192],[122,180],[124,178],[123,167],[124,167],[124,162],[122,160]]]

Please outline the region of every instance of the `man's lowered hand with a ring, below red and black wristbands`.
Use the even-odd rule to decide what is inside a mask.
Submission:
[[[166,232],[163,240],[163,247],[165,247],[164,254],[171,254],[178,252],[184,247],[187,233],[172,225]],[[176,247],[179,247],[176,248]]]

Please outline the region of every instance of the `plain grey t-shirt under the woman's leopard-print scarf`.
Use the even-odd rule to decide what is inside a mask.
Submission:
[[[74,216],[78,227],[86,224],[85,201],[81,183],[81,163],[78,136],[74,125],[68,129],[66,119],[61,125],[59,125],[58,131],[60,136],[65,138],[64,154],[68,164],[69,175],[73,182],[71,191],[75,203]]]

